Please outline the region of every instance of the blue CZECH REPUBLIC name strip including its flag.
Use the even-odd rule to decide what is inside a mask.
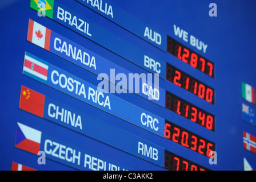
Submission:
[[[24,123],[17,122],[14,145],[18,149],[35,155],[39,151],[43,151],[46,154],[46,160],[50,159],[78,170],[127,171],[137,168],[136,166],[126,166],[109,159],[103,151],[92,152],[92,145],[98,144],[102,146],[103,144],[87,137],[83,137],[83,140],[84,144],[77,146],[59,139],[59,137],[54,137]],[[155,169],[158,168],[155,167]]]

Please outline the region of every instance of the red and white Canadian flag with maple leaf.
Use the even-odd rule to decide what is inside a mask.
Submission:
[[[50,49],[51,30],[42,26],[41,24],[29,19],[29,31],[27,33],[27,40],[36,44],[39,47]]]

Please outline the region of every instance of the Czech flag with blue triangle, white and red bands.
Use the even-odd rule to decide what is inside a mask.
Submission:
[[[15,147],[38,154],[42,132],[29,126],[17,123]]]

